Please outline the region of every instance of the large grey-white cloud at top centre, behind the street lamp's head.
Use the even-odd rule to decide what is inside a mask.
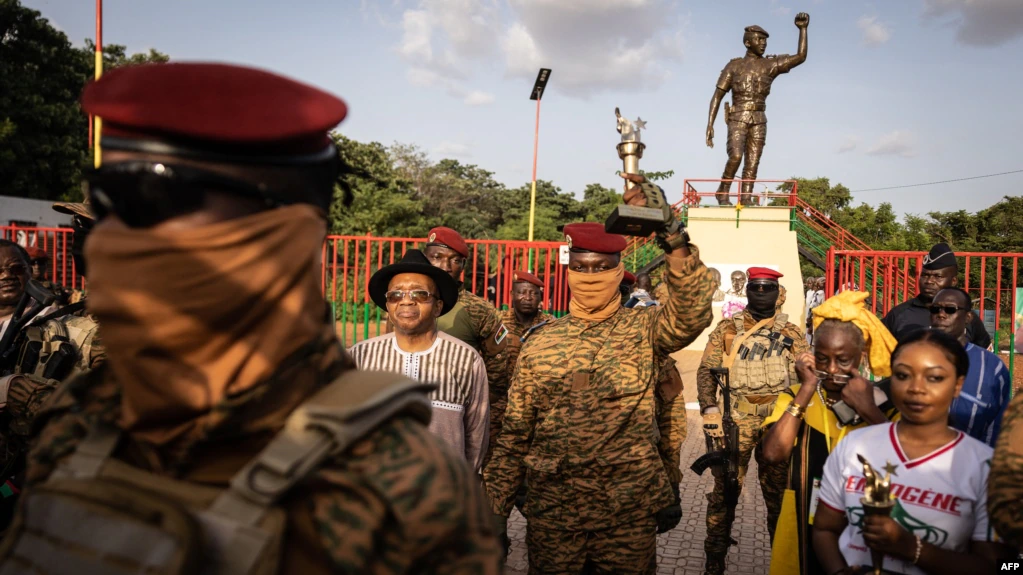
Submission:
[[[658,88],[682,57],[682,18],[671,0],[508,0],[517,21],[504,35],[506,72],[572,96]]]

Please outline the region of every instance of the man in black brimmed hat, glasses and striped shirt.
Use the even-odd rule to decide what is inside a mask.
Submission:
[[[356,344],[349,350],[355,363],[436,384],[430,431],[479,472],[489,433],[486,366],[475,349],[437,329],[437,318],[458,301],[458,284],[409,250],[369,278],[369,296],[387,310],[393,331]]]

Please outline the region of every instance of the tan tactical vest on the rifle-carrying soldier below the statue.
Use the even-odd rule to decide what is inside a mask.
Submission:
[[[736,325],[735,337],[727,342],[727,353],[735,354],[728,377],[735,396],[776,395],[792,385],[792,340],[782,335],[789,316],[780,313],[770,327],[761,327],[739,340],[746,334],[743,315],[732,317]],[[736,343],[738,349],[732,350]]]

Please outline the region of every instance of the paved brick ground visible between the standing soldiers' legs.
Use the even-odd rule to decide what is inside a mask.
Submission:
[[[686,396],[693,394],[695,401],[695,384],[693,379],[686,379]],[[691,392],[691,388],[693,391]],[[678,527],[657,537],[657,573],[658,575],[701,575],[703,573],[704,552],[703,541],[707,535],[705,522],[707,499],[705,494],[713,485],[710,471],[700,477],[690,471],[694,460],[706,451],[703,432],[700,429],[698,411],[690,410],[688,436],[682,445],[682,522]],[[731,547],[728,554],[726,573],[737,575],[766,575],[770,558],[770,543],[767,535],[767,510],[764,507],[757,482],[756,462],[750,460],[750,469],[746,476],[743,495],[736,507],[736,523],[732,527],[732,537],[739,541],[739,547]],[[511,512],[508,521],[508,536],[511,538],[511,552],[508,555],[507,569],[509,575],[525,575],[528,571],[526,559],[526,520],[518,511]]]

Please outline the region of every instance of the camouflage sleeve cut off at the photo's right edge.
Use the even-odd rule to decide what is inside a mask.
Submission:
[[[1023,548],[1023,394],[1016,394],[1002,416],[987,480],[987,513],[1005,542]]]

